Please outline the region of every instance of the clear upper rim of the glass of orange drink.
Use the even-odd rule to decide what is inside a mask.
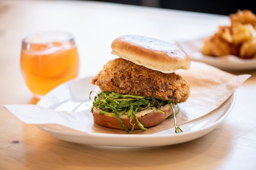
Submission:
[[[49,36],[56,36],[56,37],[49,37]],[[32,40],[32,39],[35,39],[35,40]],[[74,40],[73,34],[65,31],[40,31],[40,32],[38,31],[38,32],[26,34],[25,36],[22,37],[22,42],[26,44],[49,44],[52,42],[67,42],[70,40]]]

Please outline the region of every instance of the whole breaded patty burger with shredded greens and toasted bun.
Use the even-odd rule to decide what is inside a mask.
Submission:
[[[175,71],[188,70],[190,59],[177,45],[139,35],[113,40],[112,54],[119,56],[104,65],[92,79],[101,92],[91,112],[98,125],[147,130],[174,116],[175,105],[189,97],[189,83]]]

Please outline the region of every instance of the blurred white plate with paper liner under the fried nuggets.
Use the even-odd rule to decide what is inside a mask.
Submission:
[[[176,43],[186,51],[192,61],[203,62],[223,70],[246,71],[256,69],[256,59],[241,59],[234,55],[212,57],[201,54],[203,41],[204,39],[199,39]]]

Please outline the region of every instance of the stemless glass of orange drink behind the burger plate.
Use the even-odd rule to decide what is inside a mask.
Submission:
[[[73,35],[52,31],[23,37],[20,67],[26,85],[37,98],[76,78],[79,55]]]

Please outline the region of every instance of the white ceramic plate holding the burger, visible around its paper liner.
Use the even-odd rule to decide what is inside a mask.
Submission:
[[[71,80],[50,91],[37,105],[51,109],[78,109],[79,102],[89,101],[90,91],[98,87],[91,84],[91,78]],[[193,121],[180,125],[183,133],[175,133],[175,129],[167,129],[154,134],[107,134],[82,133],[69,129],[38,125],[39,128],[58,139],[79,144],[105,147],[153,147],[178,144],[197,139],[212,131],[230,113],[236,94],[230,96],[219,108]],[[86,107],[84,105],[83,107]]]

